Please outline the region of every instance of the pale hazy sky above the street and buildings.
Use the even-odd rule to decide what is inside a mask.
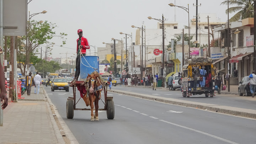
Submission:
[[[220,21],[226,22],[228,16],[225,14],[226,5],[220,5],[223,0],[198,0],[198,13],[215,13]],[[55,46],[51,47],[52,57],[74,56],[76,53],[77,30],[82,29],[83,35],[92,46],[105,47],[105,43],[111,43],[111,38],[121,39],[123,33],[133,33],[135,36],[136,28],[141,27],[142,23],[146,28],[157,28],[156,20],[149,20],[147,17],[161,18],[164,15],[167,21],[174,21],[174,7],[168,4],[174,0],[32,0],[28,4],[30,14],[46,10],[46,14],[34,16],[33,20],[43,20],[57,24],[56,34],[64,32],[66,44],[62,44],[61,39],[53,38]],[[190,19],[196,16],[196,0],[176,0],[176,5],[190,6]],[[230,16],[233,16],[231,14]],[[176,7],[176,22],[180,27],[187,25],[187,12]],[[135,38],[134,38],[135,39]],[[130,43],[130,42],[127,42]],[[65,48],[66,47],[66,48]],[[97,48],[96,48],[97,50]],[[91,47],[91,55],[94,55],[94,48]],[[72,57],[71,57],[72,59]],[[75,59],[75,58],[74,58]]]

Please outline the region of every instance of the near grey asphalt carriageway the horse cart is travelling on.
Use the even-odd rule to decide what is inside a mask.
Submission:
[[[66,118],[65,91],[45,88],[59,114],[80,144],[255,144],[255,120],[170,105],[114,94],[114,119],[99,112],[100,121],[90,121],[90,111],[75,111]],[[78,95],[77,95],[78,96]],[[78,96],[79,97],[79,96]],[[103,100],[104,101],[104,100]],[[86,108],[81,99],[77,108]],[[100,102],[100,108],[103,103]]]

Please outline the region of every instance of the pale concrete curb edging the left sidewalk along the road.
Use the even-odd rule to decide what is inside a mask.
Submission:
[[[57,108],[55,107],[55,105],[54,105],[54,104],[52,103],[52,101],[50,100],[50,98],[49,98],[48,94],[46,93],[46,91],[44,90],[44,88],[43,88],[43,92],[44,92],[44,94],[45,94],[45,96],[46,96],[46,100],[48,101],[48,106],[49,106],[49,108],[52,106],[53,111],[54,111],[54,113],[55,113],[55,115],[56,115],[56,117],[57,117],[57,119],[58,119],[58,121],[59,121],[59,123],[60,123],[60,126],[61,126],[61,128],[59,128],[59,127],[57,126],[57,123],[56,123],[55,119],[53,118],[53,116],[51,116],[51,117],[52,117],[51,120],[53,119],[52,122],[53,122],[54,125],[57,127],[57,128],[54,128],[54,131],[55,131],[58,135],[60,135],[60,137],[62,138],[63,142],[64,142],[64,139],[63,139],[63,137],[62,137],[61,131],[63,131],[63,132],[65,133],[66,138],[70,141],[70,144],[79,144],[78,141],[76,140],[75,136],[73,135],[73,133],[70,131],[70,129],[68,128],[68,126],[66,125],[66,123],[64,122],[64,120],[62,119],[62,117],[60,116],[60,114],[59,114]],[[51,105],[51,106],[50,106],[50,105]],[[50,111],[50,113],[53,115],[52,110],[49,109],[49,111]],[[56,135],[56,137],[58,137],[58,136]],[[64,142],[64,143],[65,143],[65,142]]]

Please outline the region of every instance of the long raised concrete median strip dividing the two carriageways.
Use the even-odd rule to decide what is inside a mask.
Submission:
[[[180,99],[175,99],[175,98],[166,98],[166,97],[161,97],[161,96],[139,94],[139,93],[135,93],[135,92],[124,92],[122,90],[108,90],[108,91],[115,92],[117,94],[122,94],[122,95],[144,98],[147,100],[170,103],[170,104],[174,104],[174,105],[194,107],[194,108],[199,108],[199,109],[203,109],[203,110],[237,115],[237,116],[242,116],[242,117],[256,118],[256,110],[251,110],[251,109],[246,109],[246,108],[238,108],[238,107],[231,107],[231,106],[214,105],[214,104],[210,104],[210,103],[186,101],[186,100],[180,100]]]

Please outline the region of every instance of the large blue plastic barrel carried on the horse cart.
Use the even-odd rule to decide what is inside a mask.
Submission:
[[[84,81],[88,74],[94,71],[99,72],[97,56],[81,56],[80,61],[80,81]]]

